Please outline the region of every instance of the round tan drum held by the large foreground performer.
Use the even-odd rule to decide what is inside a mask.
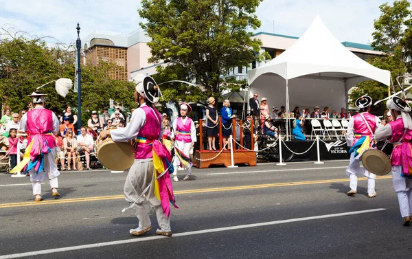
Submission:
[[[130,142],[114,142],[111,137],[96,142],[98,159],[108,169],[127,170],[135,161],[135,148]]]

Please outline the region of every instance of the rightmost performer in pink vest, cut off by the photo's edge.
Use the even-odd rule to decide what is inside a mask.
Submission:
[[[387,108],[396,120],[385,126],[380,126],[375,132],[375,139],[393,143],[392,183],[398,195],[400,214],[403,225],[411,224],[412,216],[412,120],[409,112],[411,107],[401,98],[395,96],[387,101]]]

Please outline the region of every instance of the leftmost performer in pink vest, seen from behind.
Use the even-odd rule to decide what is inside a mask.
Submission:
[[[21,131],[29,131],[30,144],[25,150],[23,161],[12,170],[12,173],[20,172],[28,163],[27,170],[33,185],[34,201],[42,201],[41,182],[45,173],[49,177],[52,196],[60,196],[57,191],[57,177],[60,172],[56,165],[56,144],[53,138],[53,134],[59,131],[60,123],[53,111],[45,109],[45,94],[34,92],[29,96],[33,98],[34,109],[21,117],[20,128]]]

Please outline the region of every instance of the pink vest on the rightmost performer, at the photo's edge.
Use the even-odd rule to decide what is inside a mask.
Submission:
[[[404,125],[402,118],[398,118],[392,122],[389,122],[392,129],[392,137],[389,139],[390,142],[399,142],[400,138],[404,134]],[[412,140],[412,131],[407,130],[404,137],[400,142],[411,142]],[[392,151],[392,165],[393,166],[400,166],[402,165],[402,146],[397,145],[393,148]]]

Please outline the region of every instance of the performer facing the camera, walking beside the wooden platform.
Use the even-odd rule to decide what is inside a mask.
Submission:
[[[171,138],[175,139],[174,147],[176,148],[175,156],[178,159],[173,161],[173,181],[179,181],[177,178],[177,168],[179,165],[183,165],[183,168],[187,171],[185,178],[183,180],[190,180],[192,177],[192,164],[190,161],[190,150],[196,142],[196,127],[194,122],[190,117],[187,117],[187,113],[190,113],[192,108],[189,104],[181,103],[180,104],[180,113],[181,117],[178,117],[173,122],[173,131]]]

